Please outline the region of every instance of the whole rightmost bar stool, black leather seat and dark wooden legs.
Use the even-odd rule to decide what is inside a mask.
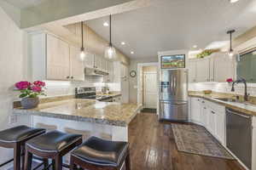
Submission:
[[[119,170],[125,162],[130,170],[129,144],[90,137],[70,157],[70,169]]]

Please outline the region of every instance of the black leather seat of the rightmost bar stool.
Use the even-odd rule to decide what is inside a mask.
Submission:
[[[114,142],[96,137],[90,137],[78,149],[73,150],[72,156],[101,167],[119,167],[128,153],[127,142]]]

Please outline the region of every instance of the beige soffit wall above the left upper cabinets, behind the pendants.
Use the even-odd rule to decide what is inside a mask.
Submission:
[[[81,44],[81,23],[65,26],[73,35],[78,37]],[[108,41],[96,34],[89,26],[84,25],[84,48],[87,48],[91,53],[104,56],[105,48],[108,47]],[[117,59],[125,65],[129,65],[130,59],[116,49]]]

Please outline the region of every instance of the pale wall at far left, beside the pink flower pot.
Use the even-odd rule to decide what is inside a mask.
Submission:
[[[3,3],[0,3],[0,130],[16,125],[9,124],[13,101],[18,96],[18,93],[14,92],[14,84],[26,79],[27,73],[26,46],[23,46],[26,44],[26,32],[16,25],[16,21],[20,20],[19,11],[9,4],[4,4],[4,8],[9,8],[8,13],[11,12],[10,9],[15,10],[15,15],[11,15],[11,18],[5,13],[2,5]],[[12,150],[0,148],[0,153],[0,162],[12,157]]]

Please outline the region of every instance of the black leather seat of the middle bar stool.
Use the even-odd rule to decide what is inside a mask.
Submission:
[[[34,150],[60,152],[81,138],[80,134],[61,133],[55,130],[27,141],[26,145]]]

